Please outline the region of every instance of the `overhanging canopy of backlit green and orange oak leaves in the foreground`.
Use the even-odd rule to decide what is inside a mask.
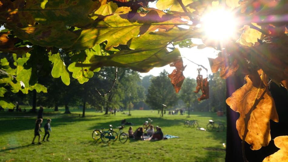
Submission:
[[[149,7],[154,1],[158,9]],[[221,42],[205,34],[202,20],[213,8],[232,11],[238,29],[234,38]],[[5,98],[7,89],[46,93],[39,78],[47,73],[61,77],[65,85],[72,73],[83,84],[104,66],[148,72],[172,62],[176,69],[169,77],[178,92],[185,66],[175,45],[210,47],[219,51],[216,59],[209,59],[213,73],[220,70],[223,79],[245,75],[246,84],[226,103],[240,113],[239,137],[258,150],[271,140],[269,120],[278,121],[269,85],[287,89],[287,12],[287,0],[0,0],[5,28],[0,51],[13,58],[0,60],[0,105],[14,107]],[[191,38],[204,44],[183,42]],[[200,90],[199,100],[209,98],[208,80],[199,75]]]

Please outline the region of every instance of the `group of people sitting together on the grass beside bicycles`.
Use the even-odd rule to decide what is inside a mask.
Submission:
[[[146,128],[139,127],[133,132],[132,127],[129,127],[129,138],[135,138],[136,140],[162,140],[163,139],[163,133],[162,129],[158,126],[155,127],[156,132],[154,131],[154,126],[149,125]]]

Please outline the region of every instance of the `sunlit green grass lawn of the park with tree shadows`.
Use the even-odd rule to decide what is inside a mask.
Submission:
[[[42,145],[31,145],[34,137],[36,114],[0,112],[0,160],[8,161],[225,161],[226,131],[200,131],[196,128],[184,127],[186,115],[164,115],[157,111],[133,110],[132,116],[121,114],[103,115],[92,110],[86,117],[79,117],[81,109],[71,110],[73,114],[62,114],[44,109],[42,124],[51,118],[51,142]],[[167,113],[167,112],[166,112]],[[25,117],[23,117],[25,116]],[[35,116],[35,117],[31,117]],[[216,113],[192,112],[189,120],[198,120],[199,127],[204,127],[208,120],[222,122],[226,127],[226,117],[218,117]],[[108,128],[120,125],[121,120],[132,122],[133,130],[142,126],[151,118],[154,126],[162,127],[165,134],[179,136],[161,141],[130,140],[122,144],[116,142],[102,143],[92,139],[95,128]],[[124,128],[128,133],[129,126]],[[115,129],[116,130],[116,129]],[[118,132],[118,130],[117,130]]]

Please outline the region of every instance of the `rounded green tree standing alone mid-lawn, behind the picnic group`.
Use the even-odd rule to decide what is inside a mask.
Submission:
[[[161,116],[163,116],[164,106],[162,104],[169,107],[176,105],[177,101],[178,97],[165,70],[159,76],[151,79],[151,85],[146,95],[146,103],[153,110],[161,110]]]

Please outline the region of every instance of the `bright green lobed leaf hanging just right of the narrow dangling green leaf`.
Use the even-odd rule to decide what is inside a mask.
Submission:
[[[101,46],[100,45],[95,45],[93,48],[91,49],[86,49],[85,52],[81,52],[80,54],[78,54],[80,57],[83,56],[84,54],[84,61],[79,61],[81,63],[84,63],[84,64],[90,64],[91,62],[89,61],[91,59],[92,56],[94,55],[102,55],[102,52],[101,52]],[[75,56],[75,55],[74,55]],[[81,60],[81,59],[79,59]],[[93,71],[89,70],[89,67],[76,67],[77,62],[73,62],[71,63],[69,66],[68,66],[68,70],[70,72],[72,72],[72,77],[77,79],[78,82],[80,84],[83,84],[85,82],[88,82],[88,80],[90,78],[92,78],[92,76],[94,75],[93,72],[98,72],[100,70],[100,68],[96,68],[94,69]]]

